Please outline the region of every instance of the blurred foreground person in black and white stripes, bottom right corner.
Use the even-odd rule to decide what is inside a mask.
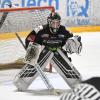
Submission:
[[[63,93],[59,100],[100,100],[100,77],[76,85],[72,92]]]

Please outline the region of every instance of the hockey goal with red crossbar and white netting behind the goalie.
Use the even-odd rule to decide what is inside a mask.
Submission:
[[[38,26],[47,24],[47,17],[54,12],[54,7],[5,8],[0,9],[0,35],[8,38],[15,33],[29,34]],[[25,42],[25,37],[21,39]],[[0,38],[0,68],[22,66],[26,52],[17,38]]]

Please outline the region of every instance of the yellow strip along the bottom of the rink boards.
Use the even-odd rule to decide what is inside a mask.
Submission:
[[[100,31],[100,26],[78,26],[78,27],[68,27],[66,28],[69,31],[73,32],[73,33],[77,33],[80,34],[81,32],[98,32]],[[26,32],[20,32],[18,33],[20,37],[26,37],[29,34],[30,31],[26,31]],[[0,33],[0,40],[4,40],[4,39],[12,39],[12,38],[16,38],[16,35],[14,33]]]

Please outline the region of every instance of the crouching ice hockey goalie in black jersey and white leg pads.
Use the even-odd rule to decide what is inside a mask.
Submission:
[[[67,52],[79,54],[82,49],[81,37],[73,36],[60,25],[58,13],[49,15],[49,24],[36,35],[35,42],[30,43],[26,53],[26,65],[16,75],[14,84],[18,90],[25,91],[39,75],[36,66],[42,70],[51,63],[65,82],[74,88],[81,81],[81,75],[71,63]],[[39,46],[44,46],[39,53]],[[63,49],[66,46],[66,50]]]

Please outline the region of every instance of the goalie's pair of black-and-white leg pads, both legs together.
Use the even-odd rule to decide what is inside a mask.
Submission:
[[[41,69],[44,69],[49,62],[71,88],[74,88],[74,85],[81,81],[80,73],[72,65],[62,50],[57,49],[56,52],[51,52],[47,48],[44,48],[40,53],[37,63]],[[24,91],[38,74],[34,66],[26,64],[18,75],[16,75],[14,84],[18,90]]]

